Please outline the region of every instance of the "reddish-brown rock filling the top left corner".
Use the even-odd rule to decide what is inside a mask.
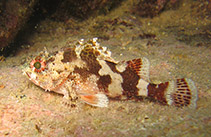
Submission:
[[[30,17],[37,0],[0,1],[0,50],[15,38]]]

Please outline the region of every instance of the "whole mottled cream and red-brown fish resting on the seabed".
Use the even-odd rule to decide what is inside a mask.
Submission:
[[[189,78],[160,84],[150,82],[145,57],[116,61],[97,38],[81,39],[60,51],[40,52],[23,69],[24,75],[45,91],[62,94],[94,107],[108,107],[110,100],[142,101],[196,108],[198,92]]]

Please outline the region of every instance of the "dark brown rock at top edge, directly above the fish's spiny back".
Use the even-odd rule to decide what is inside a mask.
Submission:
[[[57,19],[69,17],[87,19],[98,14],[107,14],[123,0],[64,0],[54,15]]]

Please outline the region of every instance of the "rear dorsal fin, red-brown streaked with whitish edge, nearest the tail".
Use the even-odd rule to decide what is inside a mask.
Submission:
[[[149,82],[149,60],[145,57],[139,59],[133,59],[127,61],[128,66],[130,67],[141,79]]]

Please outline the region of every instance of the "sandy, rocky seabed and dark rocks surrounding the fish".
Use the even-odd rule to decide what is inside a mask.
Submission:
[[[210,136],[210,13],[210,0],[0,1],[0,136]],[[93,37],[117,60],[147,57],[154,83],[191,78],[197,108],[149,100],[71,108],[22,75],[44,47]]]

